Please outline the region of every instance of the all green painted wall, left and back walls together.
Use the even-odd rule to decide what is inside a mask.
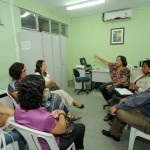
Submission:
[[[94,60],[94,54],[108,61],[115,61],[117,55],[124,55],[134,66],[138,66],[139,60],[150,57],[150,7],[134,9],[133,17],[129,21],[104,23],[101,14],[69,18],[38,4],[36,0],[0,0],[0,16],[4,23],[4,26],[0,26],[0,88],[7,87],[8,68],[14,61],[19,61],[18,33],[21,30],[19,7],[69,25],[67,49],[69,80],[73,79],[72,69],[79,64],[80,57],[85,57],[89,64],[101,68],[106,66]],[[125,28],[124,44],[110,45],[110,30],[120,27]]]

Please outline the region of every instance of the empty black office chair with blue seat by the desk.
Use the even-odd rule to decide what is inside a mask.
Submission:
[[[87,94],[89,94],[89,91],[84,89],[84,83],[85,82],[89,82],[90,78],[88,78],[88,77],[80,77],[80,73],[79,73],[79,71],[77,69],[73,69],[73,73],[74,73],[76,82],[78,82],[78,83],[82,82],[82,88],[77,94],[79,95],[79,93],[81,93],[81,92],[86,92]],[[76,92],[76,89],[75,89],[75,92]]]

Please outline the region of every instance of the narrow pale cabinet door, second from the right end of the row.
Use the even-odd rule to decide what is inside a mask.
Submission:
[[[62,88],[61,85],[61,52],[60,52],[60,37],[52,34],[52,48],[53,48],[53,64],[54,64],[54,78],[55,82]]]

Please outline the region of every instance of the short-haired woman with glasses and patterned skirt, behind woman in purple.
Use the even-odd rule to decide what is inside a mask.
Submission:
[[[26,76],[25,65],[19,62],[13,63],[9,68],[9,75],[12,77],[12,81],[8,85],[8,92],[18,103],[19,84]],[[52,112],[56,109],[63,109],[68,117],[72,118],[73,120],[81,119],[81,117],[75,116],[71,112],[69,112],[61,97],[56,93],[51,94],[49,92],[46,92],[43,97],[43,106],[45,106],[49,112]]]

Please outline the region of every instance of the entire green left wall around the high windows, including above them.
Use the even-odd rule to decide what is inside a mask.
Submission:
[[[7,87],[10,80],[8,68],[13,62],[20,61],[18,33],[22,29],[19,7],[65,24],[70,21],[70,18],[38,4],[36,0],[0,0],[0,16],[4,23],[4,26],[0,25],[0,88],[2,89]]]

